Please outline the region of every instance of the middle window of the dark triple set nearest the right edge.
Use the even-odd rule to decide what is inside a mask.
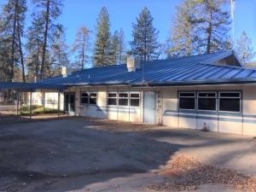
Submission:
[[[197,109],[216,111],[216,92],[198,92]]]

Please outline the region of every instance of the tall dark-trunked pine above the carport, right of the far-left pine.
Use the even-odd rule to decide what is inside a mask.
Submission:
[[[32,51],[35,66],[35,76],[44,79],[46,73],[44,70],[49,68],[49,47],[53,42],[54,33],[58,25],[55,20],[61,15],[62,0],[32,0],[35,4],[35,13],[32,14],[32,26],[29,28],[29,48],[36,49]],[[33,45],[33,46],[31,46]]]

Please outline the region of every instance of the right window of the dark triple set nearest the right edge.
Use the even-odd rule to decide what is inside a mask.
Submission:
[[[241,92],[219,92],[219,111],[240,112],[241,111]]]

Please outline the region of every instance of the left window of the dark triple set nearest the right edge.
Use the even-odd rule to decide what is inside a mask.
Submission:
[[[195,109],[195,92],[179,92],[179,109]]]

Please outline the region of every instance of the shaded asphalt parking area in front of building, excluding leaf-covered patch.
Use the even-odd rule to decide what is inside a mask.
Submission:
[[[0,191],[154,191],[177,155],[256,176],[253,137],[106,119],[1,124],[0,152]]]

